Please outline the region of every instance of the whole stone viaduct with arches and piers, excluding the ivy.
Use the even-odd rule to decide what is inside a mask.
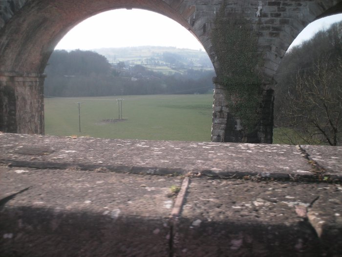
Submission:
[[[54,47],[77,23],[107,10],[140,8],[180,23],[205,47],[219,76],[211,37],[222,1],[0,0],[0,131],[44,133],[43,71]],[[225,0],[225,4],[226,17],[239,16],[253,24],[263,59],[262,116],[247,142],[272,143],[273,77],[281,58],[307,24],[341,13],[342,0]],[[220,81],[213,82],[212,140],[240,141],[239,119],[230,113]]]

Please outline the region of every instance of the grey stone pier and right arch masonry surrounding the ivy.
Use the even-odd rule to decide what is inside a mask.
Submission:
[[[288,47],[309,23],[341,12],[341,0],[241,0],[238,3],[226,1],[227,17],[243,15],[252,21],[253,29],[258,35],[258,52],[262,53],[263,59],[262,115],[255,133],[247,136],[247,142],[272,143],[274,75]],[[214,62],[214,66],[219,68],[219,63]],[[229,113],[220,81],[214,80],[214,85],[216,90],[212,141],[240,142],[240,121]]]

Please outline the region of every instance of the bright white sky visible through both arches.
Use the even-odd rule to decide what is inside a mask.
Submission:
[[[138,22],[137,22],[138,21]],[[317,31],[342,21],[342,14],[309,24],[293,45],[310,39]],[[71,29],[56,49],[96,49],[101,47],[166,46],[204,49],[179,23],[158,13],[119,9],[95,15]]]

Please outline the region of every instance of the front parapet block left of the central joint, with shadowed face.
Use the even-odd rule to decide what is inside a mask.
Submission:
[[[179,185],[174,177],[0,167],[0,256],[169,256],[168,194]]]

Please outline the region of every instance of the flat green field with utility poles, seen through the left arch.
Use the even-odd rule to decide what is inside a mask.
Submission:
[[[212,94],[45,98],[45,134],[113,139],[210,141]],[[78,105],[81,104],[81,133]]]

